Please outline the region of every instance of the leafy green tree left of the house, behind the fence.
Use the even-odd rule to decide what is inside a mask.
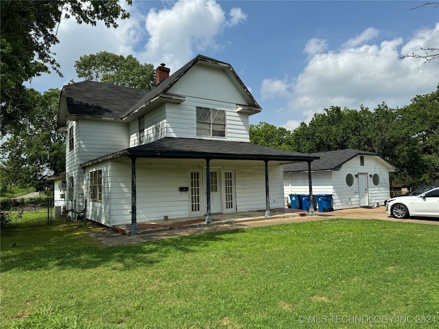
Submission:
[[[1,180],[3,186],[41,189],[47,175],[65,170],[65,136],[54,131],[60,90],[47,90],[43,95],[34,89],[28,91],[35,105],[23,120],[23,129],[8,135],[0,147],[1,158],[6,159]]]

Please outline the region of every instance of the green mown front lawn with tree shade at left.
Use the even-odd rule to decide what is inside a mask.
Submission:
[[[106,247],[86,236],[100,228],[45,220],[1,232],[1,328],[439,327],[439,226],[331,219]]]

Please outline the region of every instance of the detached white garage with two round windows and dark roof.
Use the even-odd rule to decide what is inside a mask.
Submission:
[[[341,149],[309,155],[320,158],[311,164],[313,195],[332,195],[334,210],[383,205],[390,197],[389,173],[397,169],[379,154]],[[285,198],[308,194],[307,166],[285,164],[283,186]]]

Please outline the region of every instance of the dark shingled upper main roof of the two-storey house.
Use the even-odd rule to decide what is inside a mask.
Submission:
[[[123,121],[134,115],[136,117],[139,109],[149,104],[160,101],[181,102],[185,97],[167,93],[169,89],[180,80],[180,78],[191,69],[196,63],[222,67],[229,75],[230,80],[241,88],[241,93],[248,102],[248,106],[261,110],[259,104],[239,79],[237,73],[230,64],[198,55],[193,60],[182,66],[174,74],[163,80],[152,90],[142,90],[104,84],[102,82],[84,81],[64,86],[61,91],[60,109],[58,111],[58,128],[67,123],[67,116],[73,117],[94,117],[99,119],[117,119]],[[158,99],[161,99],[157,102]],[[64,103],[62,103],[64,101]]]

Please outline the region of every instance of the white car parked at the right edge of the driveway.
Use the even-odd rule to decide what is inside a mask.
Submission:
[[[420,195],[404,195],[389,199],[385,212],[396,218],[410,216],[439,219],[439,187]]]

